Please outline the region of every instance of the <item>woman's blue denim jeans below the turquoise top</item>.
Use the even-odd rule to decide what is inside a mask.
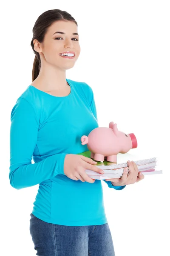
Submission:
[[[39,256],[115,256],[108,223],[63,226],[30,214],[30,234]]]

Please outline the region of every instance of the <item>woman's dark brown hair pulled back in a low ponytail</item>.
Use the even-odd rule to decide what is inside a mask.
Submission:
[[[37,39],[40,43],[43,42],[45,33],[51,24],[57,20],[70,20],[74,21],[77,25],[76,20],[65,11],[61,11],[59,9],[48,10],[43,12],[36,20],[34,27],[32,29],[33,38],[31,41],[31,47],[35,53],[33,68],[32,68],[32,82],[37,78],[40,72],[41,67],[41,59],[39,52],[34,50],[34,39]],[[77,25],[78,26],[78,25]]]

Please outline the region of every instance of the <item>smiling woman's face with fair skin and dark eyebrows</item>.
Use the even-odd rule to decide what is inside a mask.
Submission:
[[[54,22],[48,28],[43,43],[40,43],[41,63],[46,61],[61,70],[72,68],[80,54],[79,35],[74,33],[78,34],[77,25],[73,21]],[[63,58],[59,55],[62,52],[74,52],[74,58]]]

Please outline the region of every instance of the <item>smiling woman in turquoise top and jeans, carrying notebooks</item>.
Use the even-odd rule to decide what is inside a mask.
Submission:
[[[42,13],[31,47],[32,83],[11,111],[9,178],[16,189],[39,184],[30,219],[36,255],[114,256],[101,180],[85,172],[101,169],[77,155],[88,150],[81,136],[98,127],[91,87],[66,79],[80,54],[77,22],[59,9]],[[144,178],[135,163],[128,166],[129,175],[104,180],[109,188],[121,190]]]

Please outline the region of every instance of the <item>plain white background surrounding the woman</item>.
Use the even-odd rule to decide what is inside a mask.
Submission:
[[[169,255],[169,1],[8,1],[2,9],[0,254],[37,252],[29,219],[38,185],[16,190],[8,178],[10,115],[32,82],[34,23],[42,12],[61,9],[77,20],[81,47],[66,78],[92,87],[99,126],[113,121],[120,131],[136,135],[138,147],[128,152],[129,160],[133,154],[158,157],[163,170],[122,191],[102,181],[116,256]]]

